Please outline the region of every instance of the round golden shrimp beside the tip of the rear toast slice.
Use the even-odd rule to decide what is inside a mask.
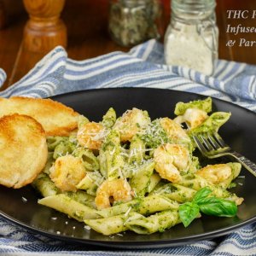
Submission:
[[[89,122],[79,128],[78,141],[81,146],[89,149],[99,149],[105,137],[105,128],[103,125],[95,122]]]

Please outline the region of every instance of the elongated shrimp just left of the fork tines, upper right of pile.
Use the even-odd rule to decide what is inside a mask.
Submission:
[[[173,143],[190,143],[190,138],[181,125],[169,118],[160,119],[160,125]]]

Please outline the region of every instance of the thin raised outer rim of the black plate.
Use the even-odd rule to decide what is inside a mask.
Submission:
[[[193,95],[193,96],[200,96],[200,97],[207,97],[206,95],[202,95],[199,93],[195,92],[189,92],[189,91],[183,91],[183,90],[172,90],[172,89],[163,89],[163,88],[145,88],[145,87],[119,87],[119,88],[99,88],[99,89],[88,89],[88,90],[76,90],[76,91],[71,91],[71,92],[65,92],[61,93],[55,96],[49,96],[47,98],[58,101],[58,98],[63,97],[63,96],[70,96],[70,95],[79,95],[81,93],[90,93],[90,92],[95,92],[95,91],[109,91],[109,90],[166,90],[166,91],[175,91],[177,93],[185,94],[185,95]],[[240,105],[225,101],[219,98],[216,98],[214,96],[211,96],[214,98],[214,101],[217,102],[224,102],[225,104],[229,104],[230,106],[235,106],[236,108],[241,108],[242,111],[246,111],[248,113],[253,113],[256,117],[256,113],[253,112],[250,109],[243,108]],[[63,213],[64,214],[64,213]],[[69,242],[79,242],[80,244],[88,244],[88,245],[98,245],[101,247],[115,247],[115,248],[123,248],[123,249],[131,249],[131,248],[157,248],[157,247],[174,247],[174,246],[180,246],[183,245],[184,242],[187,243],[193,243],[195,241],[202,241],[206,239],[213,239],[218,236],[224,236],[228,234],[230,231],[236,231],[240,229],[243,226],[246,226],[247,224],[252,224],[253,222],[256,221],[256,215],[253,218],[249,218],[241,223],[238,224],[232,224],[229,227],[217,229],[217,230],[211,230],[207,231],[206,233],[198,234],[198,235],[191,235],[191,236],[183,236],[179,238],[172,238],[172,239],[162,239],[162,240],[150,240],[150,241],[102,241],[98,239],[86,239],[86,238],[79,238],[76,236],[65,236],[65,235],[59,235],[53,232],[49,232],[47,230],[42,230],[37,227],[33,227],[29,224],[26,224],[19,219],[16,219],[9,214],[3,212],[0,210],[0,215],[10,221],[11,223],[17,224],[26,230],[32,230],[33,232],[39,233],[44,236],[48,236],[51,238],[57,238],[58,240],[61,241],[69,241]],[[146,235],[145,235],[146,236]],[[154,243],[154,244],[151,244]],[[149,246],[150,245],[150,246]]]

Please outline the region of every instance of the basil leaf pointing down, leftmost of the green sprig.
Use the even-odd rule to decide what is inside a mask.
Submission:
[[[199,215],[199,207],[193,202],[186,202],[178,207],[178,215],[186,228]]]

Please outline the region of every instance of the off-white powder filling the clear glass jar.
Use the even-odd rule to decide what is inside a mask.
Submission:
[[[213,72],[212,33],[197,32],[196,25],[183,25],[179,29],[169,27],[165,38],[166,64],[195,69],[206,75]],[[208,47],[209,46],[209,47]]]

